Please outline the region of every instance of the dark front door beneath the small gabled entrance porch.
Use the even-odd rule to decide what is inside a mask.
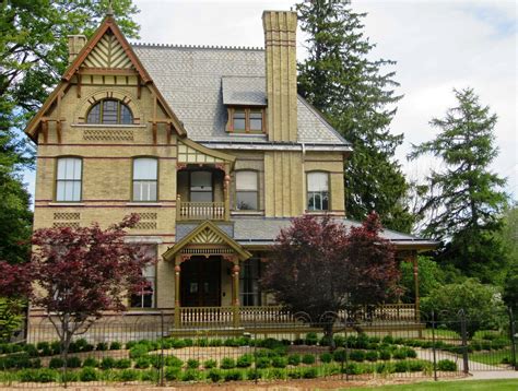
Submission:
[[[183,307],[221,306],[221,258],[191,257],[181,264]]]

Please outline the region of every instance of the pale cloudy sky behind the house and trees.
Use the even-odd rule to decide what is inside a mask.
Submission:
[[[263,47],[263,10],[289,10],[294,0],[134,0],[141,42],[183,45]],[[473,87],[483,105],[498,116],[498,157],[492,170],[507,178],[505,190],[518,199],[517,144],[517,5],[507,0],[362,0],[365,35],[376,44],[373,58],[397,61],[395,79],[404,97],[391,123],[403,133],[397,158],[409,179],[422,180],[433,158],[408,162],[412,144],[432,140],[442,118],[455,105],[452,88]],[[297,58],[305,57],[297,35]],[[174,108],[173,108],[174,109]],[[34,191],[34,175],[26,180]]]

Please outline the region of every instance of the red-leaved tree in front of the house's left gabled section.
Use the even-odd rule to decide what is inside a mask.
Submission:
[[[86,332],[103,311],[123,310],[128,293],[145,289],[142,269],[152,260],[145,248],[125,244],[125,229],[138,220],[131,215],[107,229],[35,230],[31,262],[0,262],[0,271],[8,271],[0,274],[0,296],[25,296],[44,308],[67,355],[73,335]]]

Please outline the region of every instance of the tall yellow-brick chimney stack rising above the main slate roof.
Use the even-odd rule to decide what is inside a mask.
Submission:
[[[270,141],[297,141],[297,14],[264,11],[268,137]]]

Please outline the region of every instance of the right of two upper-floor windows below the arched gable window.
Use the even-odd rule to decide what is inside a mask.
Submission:
[[[157,168],[156,158],[133,159],[133,201],[156,201]]]

